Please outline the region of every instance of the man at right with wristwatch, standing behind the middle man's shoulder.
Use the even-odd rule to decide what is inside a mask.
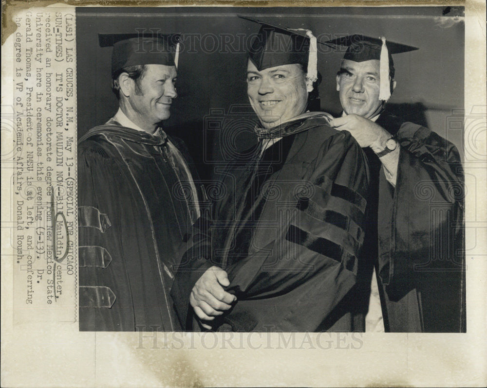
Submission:
[[[392,54],[417,48],[364,35],[327,43],[347,47],[336,77],[343,115],[330,124],[364,147],[371,171],[366,331],[465,332],[460,156],[452,143],[385,105],[396,87]]]

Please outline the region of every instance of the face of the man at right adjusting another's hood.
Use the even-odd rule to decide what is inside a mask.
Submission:
[[[340,103],[346,114],[356,114],[366,119],[376,116],[382,106],[379,100],[379,61],[342,61],[337,75]]]

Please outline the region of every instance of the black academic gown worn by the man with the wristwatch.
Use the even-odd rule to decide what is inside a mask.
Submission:
[[[370,157],[371,179],[378,181],[371,191],[378,192],[376,267],[385,330],[465,332],[465,192],[458,151],[387,110],[376,123],[401,145],[395,188],[378,158]]]

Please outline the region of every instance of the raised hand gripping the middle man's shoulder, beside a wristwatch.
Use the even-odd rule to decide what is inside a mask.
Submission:
[[[379,124],[356,114],[338,117],[330,121],[338,131],[349,131],[360,147],[371,147],[375,153],[383,151],[391,134]]]

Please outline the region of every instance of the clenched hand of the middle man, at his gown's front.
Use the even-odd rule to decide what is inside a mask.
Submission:
[[[228,275],[222,268],[214,265],[205,271],[189,296],[189,303],[198,318],[207,321],[213,320],[232,307],[231,303],[237,298],[223,288],[229,284]],[[211,329],[210,325],[200,323],[205,329]]]

